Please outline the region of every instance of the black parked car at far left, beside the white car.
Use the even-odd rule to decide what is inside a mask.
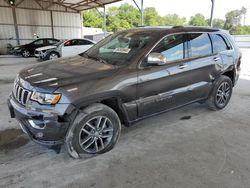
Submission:
[[[23,57],[30,57],[34,55],[35,49],[43,46],[54,45],[59,41],[60,40],[54,38],[40,38],[31,43],[16,46],[13,49],[13,53],[16,55],[22,55]]]

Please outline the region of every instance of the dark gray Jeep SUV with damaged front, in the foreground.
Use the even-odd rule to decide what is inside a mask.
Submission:
[[[136,28],[115,33],[78,56],[22,70],[8,99],[32,140],[69,154],[100,154],[121,124],[194,102],[229,102],[241,53],[213,28]]]

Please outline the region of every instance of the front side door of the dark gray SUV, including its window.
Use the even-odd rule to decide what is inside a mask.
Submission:
[[[186,34],[166,36],[151,52],[163,54],[167,62],[164,65],[149,65],[147,60],[142,63],[138,72],[139,117],[189,102],[192,72]]]

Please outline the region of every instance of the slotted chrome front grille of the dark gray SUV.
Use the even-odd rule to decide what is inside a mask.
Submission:
[[[24,89],[18,84],[14,85],[13,96],[20,104],[26,105],[28,100],[30,99],[30,95],[31,95],[31,91]]]

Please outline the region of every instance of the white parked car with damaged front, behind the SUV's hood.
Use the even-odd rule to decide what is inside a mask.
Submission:
[[[43,61],[57,59],[59,57],[74,56],[85,52],[94,44],[95,42],[89,39],[60,41],[55,45],[37,48],[35,56]]]

